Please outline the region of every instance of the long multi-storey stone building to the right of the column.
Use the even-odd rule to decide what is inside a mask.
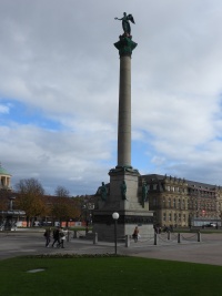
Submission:
[[[160,226],[221,226],[222,188],[167,175],[142,175],[149,190],[149,207]]]

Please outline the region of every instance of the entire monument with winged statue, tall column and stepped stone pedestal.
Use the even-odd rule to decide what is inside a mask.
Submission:
[[[112,213],[118,212],[118,236],[131,235],[140,225],[140,233],[147,235],[153,232],[153,213],[149,206],[141,203],[140,173],[131,166],[131,55],[137,43],[132,41],[128,20],[132,16],[123,13],[124,33],[119,37],[114,47],[120,55],[119,81],[119,119],[118,119],[118,164],[109,172],[110,184],[99,193],[102,200],[93,215],[93,232],[101,241],[113,239]],[[133,21],[134,22],[134,21]],[[104,185],[103,185],[104,186]]]

